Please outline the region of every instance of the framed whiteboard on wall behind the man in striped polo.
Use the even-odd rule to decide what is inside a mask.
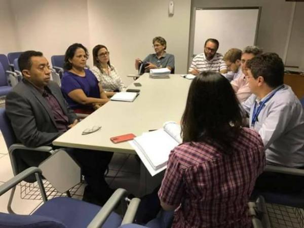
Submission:
[[[193,54],[204,52],[208,38],[219,42],[218,51],[225,54],[231,48],[243,50],[255,45],[259,22],[259,7],[196,9]]]

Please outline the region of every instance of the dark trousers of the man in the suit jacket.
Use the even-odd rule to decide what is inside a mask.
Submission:
[[[85,176],[88,186],[85,194],[90,192],[94,198],[108,198],[112,191],[104,179],[104,172],[113,156],[113,153],[106,151],[97,151],[89,149],[64,148],[64,150],[77,162]],[[50,154],[40,151],[16,151],[16,158],[20,169],[31,166],[39,166],[39,164],[47,159]],[[22,168],[21,168],[22,167]],[[60,178],[60,177],[59,177]],[[32,178],[33,182],[35,179]],[[87,193],[86,193],[87,192]]]

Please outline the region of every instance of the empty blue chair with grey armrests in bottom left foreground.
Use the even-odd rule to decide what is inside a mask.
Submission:
[[[42,183],[42,171],[36,167],[30,167],[8,182],[0,186],[0,196],[11,188],[14,188],[24,178],[35,175],[44,204],[31,215],[17,215],[0,213],[0,227],[35,227],[35,228],[82,228],[82,227],[105,227],[117,228],[122,223],[130,223],[134,219],[136,208],[140,202],[134,198],[130,202],[124,220],[113,209],[120,200],[125,197],[126,190],[119,188],[101,208],[77,199],[57,197],[48,200]]]

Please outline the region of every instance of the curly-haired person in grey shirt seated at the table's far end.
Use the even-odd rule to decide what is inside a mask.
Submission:
[[[157,36],[153,39],[152,43],[155,54],[149,54],[143,61],[139,58],[135,59],[135,69],[138,70],[142,62],[147,62],[145,72],[149,72],[150,69],[167,67],[171,70],[171,73],[174,73],[174,55],[166,52],[166,40],[161,36]]]

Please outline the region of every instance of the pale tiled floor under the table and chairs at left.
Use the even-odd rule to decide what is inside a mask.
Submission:
[[[109,164],[109,172],[106,176],[106,181],[111,188],[123,187],[129,193],[137,196],[139,194],[139,172],[140,163],[135,159],[134,155],[114,154]],[[0,132],[0,185],[13,177],[10,157],[3,136]],[[54,197],[58,194],[53,188],[50,189],[50,184],[45,183],[47,195]],[[71,192],[73,198],[82,199],[85,184],[75,186]],[[40,204],[41,198],[37,197],[39,189],[34,184],[18,185],[15,192],[15,197],[12,203],[12,209],[18,214],[30,214]],[[0,197],[0,212],[7,212],[7,204],[10,192]]]

